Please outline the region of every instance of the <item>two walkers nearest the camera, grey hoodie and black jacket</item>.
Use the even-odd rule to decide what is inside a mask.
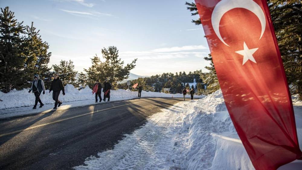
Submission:
[[[42,103],[40,99],[41,92],[43,91],[43,95],[45,94],[45,86],[43,80],[40,79],[39,75],[34,75],[34,80],[31,84],[31,88],[29,89],[28,93],[33,91],[36,99],[35,99],[35,105],[33,109],[37,108],[38,102],[40,103],[40,107],[43,107],[44,104]],[[65,95],[64,85],[63,82],[60,80],[59,75],[53,74],[53,81],[51,82],[51,86],[49,89],[49,92],[53,91],[53,100],[55,101],[55,107],[53,109],[57,109],[57,107],[60,107],[62,102],[59,101],[59,95],[62,91],[63,95]]]

